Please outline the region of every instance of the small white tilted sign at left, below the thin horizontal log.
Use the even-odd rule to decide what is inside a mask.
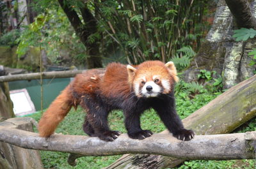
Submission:
[[[13,102],[13,112],[15,115],[32,114],[36,111],[27,89],[10,91],[10,98]]]

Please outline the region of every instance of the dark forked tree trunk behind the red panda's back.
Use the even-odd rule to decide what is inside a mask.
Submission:
[[[58,2],[63,11],[66,13],[70,24],[72,27],[74,27],[77,36],[86,47],[86,51],[89,55],[88,58],[86,58],[87,68],[102,68],[99,41],[96,40],[92,43],[88,41],[88,37],[97,31],[97,22],[91,11],[86,8],[86,4],[80,8],[85,23],[83,24],[77,15],[77,12],[74,10],[74,8],[72,8],[72,5],[63,0],[58,0]]]

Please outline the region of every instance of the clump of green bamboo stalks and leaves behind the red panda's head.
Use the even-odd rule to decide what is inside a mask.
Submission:
[[[90,1],[88,6],[97,13],[104,45],[112,48],[116,44],[114,50],[124,52],[129,63],[168,61],[175,56],[175,61],[186,67],[188,55],[183,58],[175,53],[184,46],[198,47],[202,33],[208,29],[201,17],[207,11],[205,2],[107,0]],[[189,11],[198,15],[189,15]],[[103,48],[104,55],[109,55],[108,52]]]

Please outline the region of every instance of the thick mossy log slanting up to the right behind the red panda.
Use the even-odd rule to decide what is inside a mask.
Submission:
[[[193,129],[196,135],[213,135],[230,133],[255,116],[256,75],[231,87],[182,122],[185,128]],[[121,157],[106,168],[173,168],[182,162],[184,159],[131,154]]]

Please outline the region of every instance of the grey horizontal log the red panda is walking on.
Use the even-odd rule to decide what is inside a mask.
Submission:
[[[28,117],[17,117],[10,121],[29,121]],[[144,140],[118,136],[113,142],[97,137],[81,135],[52,135],[42,138],[38,133],[24,131],[0,123],[0,141],[26,149],[60,151],[80,156],[111,156],[140,153],[159,154],[182,159],[253,159],[256,131],[226,135],[196,135],[190,141],[177,140],[169,134],[156,133]]]

